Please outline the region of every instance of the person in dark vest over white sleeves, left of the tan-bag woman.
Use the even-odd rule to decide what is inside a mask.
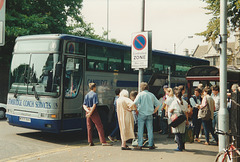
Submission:
[[[193,109],[192,122],[193,122],[193,135],[195,136],[195,141],[201,142],[199,139],[199,133],[201,130],[202,119],[198,119],[198,105],[201,105],[202,90],[200,88],[196,88],[194,90],[194,95],[190,98],[190,106]]]

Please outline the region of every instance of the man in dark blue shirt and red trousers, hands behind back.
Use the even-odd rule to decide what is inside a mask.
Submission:
[[[104,137],[103,125],[96,109],[98,104],[98,96],[96,93],[96,90],[97,90],[96,83],[89,83],[89,89],[91,91],[86,94],[84,98],[84,103],[83,103],[83,108],[86,111],[86,118],[87,118],[87,132],[88,132],[89,146],[94,146],[94,143],[92,140],[92,129],[93,129],[92,123],[94,123],[97,128],[100,142],[102,143],[102,145],[110,146],[110,144],[106,142],[106,139]]]

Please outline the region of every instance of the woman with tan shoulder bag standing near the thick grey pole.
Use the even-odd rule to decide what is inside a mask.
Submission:
[[[203,100],[202,104],[199,105],[198,118],[202,119],[202,125],[205,133],[206,142],[205,145],[209,145],[209,132],[212,134],[214,140],[218,142],[218,136],[214,133],[212,127],[212,119],[214,115],[215,103],[213,98],[210,96],[211,90],[209,88],[203,89]]]

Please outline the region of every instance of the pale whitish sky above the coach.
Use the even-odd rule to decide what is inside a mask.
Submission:
[[[109,1],[109,39],[115,38],[131,45],[131,35],[141,32],[142,0],[83,0],[82,15],[92,23],[96,34],[107,30],[107,1]],[[145,31],[152,31],[153,49],[183,54],[197,45],[206,45],[204,37],[196,36],[206,30],[211,18],[206,15],[201,0],[145,0]],[[193,36],[193,37],[192,37]]]

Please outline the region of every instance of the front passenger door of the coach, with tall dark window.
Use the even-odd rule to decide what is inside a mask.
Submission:
[[[82,127],[80,120],[83,117],[83,67],[83,58],[65,56],[63,130],[77,130]]]

